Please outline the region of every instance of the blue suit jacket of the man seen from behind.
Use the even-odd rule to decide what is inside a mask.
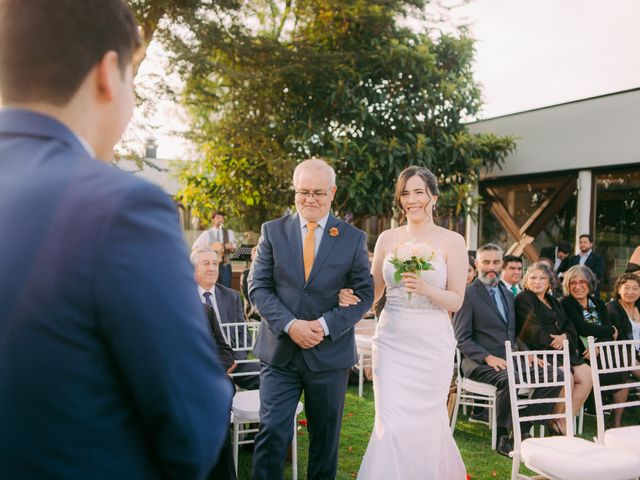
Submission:
[[[175,206],[51,117],[0,110],[0,476],[202,479],[226,437]]]

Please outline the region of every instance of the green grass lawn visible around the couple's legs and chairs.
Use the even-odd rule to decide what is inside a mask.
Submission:
[[[635,412],[633,412],[633,414],[635,414]],[[630,420],[631,416],[632,414],[625,415],[627,420]],[[349,387],[345,403],[344,420],[342,422],[342,434],[340,436],[340,458],[337,476],[339,480],[356,478],[360,461],[367,448],[367,442],[371,434],[373,417],[374,409],[371,383],[365,384],[363,398],[358,398],[357,387]],[[299,419],[301,418],[304,418],[304,413],[300,415]],[[474,480],[510,478],[511,460],[491,450],[491,432],[489,427],[467,422],[463,417],[462,408],[460,408],[458,418],[454,437],[460,448],[469,476]],[[595,432],[595,417],[585,415],[582,437],[591,440],[595,436]],[[300,427],[298,435],[298,478],[300,479],[306,478],[307,439],[305,427]],[[238,471],[239,480],[249,479],[250,471],[251,453],[241,449]],[[289,465],[285,471],[285,478],[291,478],[291,468]]]

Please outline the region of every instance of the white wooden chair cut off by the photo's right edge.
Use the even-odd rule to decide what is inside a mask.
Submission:
[[[600,385],[600,376],[607,373],[626,372],[626,376],[640,369],[640,362],[636,357],[636,349],[640,347],[640,340],[620,340],[595,343],[593,337],[588,338],[589,356],[591,361],[591,376],[593,378],[593,396],[596,403],[596,421],[598,437],[596,442],[607,447],[620,448],[640,454],[640,425],[610,428],[605,431],[604,412],[617,408],[634,407],[640,405],[640,398],[623,403],[605,403],[604,392],[616,391],[622,388],[640,387],[640,382],[627,382],[615,385]],[[596,361],[595,359],[599,361]]]

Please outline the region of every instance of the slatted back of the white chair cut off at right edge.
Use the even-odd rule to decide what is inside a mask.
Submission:
[[[616,340],[597,342],[593,337],[587,339],[589,343],[589,357],[591,360],[591,378],[593,379],[593,397],[596,405],[596,423],[598,425],[597,442],[604,444],[604,412],[616,408],[640,406],[640,398],[624,403],[615,403],[615,400],[606,398],[603,393],[615,391],[621,388],[635,388],[640,382],[617,383],[616,385],[602,386],[601,376],[615,373],[631,373],[638,370],[637,351],[640,340]],[[626,380],[626,379],[625,379]]]

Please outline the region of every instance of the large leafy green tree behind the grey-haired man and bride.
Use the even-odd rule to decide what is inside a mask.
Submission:
[[[202,151],[181,172],[181,199],[203,217],[224,206],[255,229],[292,204],[295,164],[322,156],[338,175],[339,214],[389,217],[395,178],[415,164],[438,176],[441,214],[458,225],[479,169],[515,144],[468,132],[481,106],[473,41],[401,26],[423,8],[260,0],[168,35]]]

